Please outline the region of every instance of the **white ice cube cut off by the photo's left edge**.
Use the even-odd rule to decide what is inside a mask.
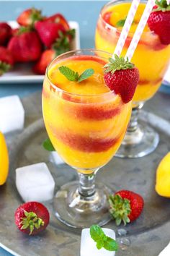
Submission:
[[[24,127],[24,108],[17,95],[0,98],[0,131],[21,130]]]

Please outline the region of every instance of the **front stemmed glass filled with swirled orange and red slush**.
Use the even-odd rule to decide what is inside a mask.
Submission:
[[[50,70],[53,68],[55,77],[58,76],[58,65],[63,61],[66,65],[70,59],[75,65],[79,59],[89,60],[89,67],[94,59],[103,67],[110,56],[96,50],[70,51],[54,59],[45,74],[42,90],[45,127],[55,150],[79,175],[79,182],[64,184],[56,193],[55,216],[74,228],[94,223],[104,225],[110,219],[107,197],[111,190],[102,181],[96,183],[95,176],[120,147],[132,106],[110,90],[91,95],[68,93],[53,82]],[[92,79],[97,85],[103,78],[95,71]]]

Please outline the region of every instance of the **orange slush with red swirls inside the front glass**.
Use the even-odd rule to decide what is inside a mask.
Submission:
[[[104,83],[106,61],[97,56],[72,56],[56,61],[48,70],[42,90],[42,111],[51,142],[63,160],[85,174],[104,166],[120,147],[128,127],[131,102]],[[59,72],[66,66],[81,74],[94,74],[80,83]]]

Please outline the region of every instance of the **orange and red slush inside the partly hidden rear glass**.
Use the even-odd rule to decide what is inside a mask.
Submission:
[[[102,9],[97,22],[95,38],[97,50],[114,52],[123,23],[128,15],[130,4],[130,2],[120,3],[120,1],[113,1]],[[125,56],[128,50],[145,6],[146,4],[140,4],[138,7],[122,56]],[[135,90],[133,101],[146,101],[156,93],[169,65],[169,56],[170,45],[161,44],[158,35],[151,32],[148,25],[146,25],[132,59],[132,62],[135,63],[140,72],[140,81]]]

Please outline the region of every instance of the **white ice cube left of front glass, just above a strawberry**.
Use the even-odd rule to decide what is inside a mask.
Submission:
[[[45,163],[35,163],[16,169],[16,186],[24,202],[51,200],[55,182]]]

